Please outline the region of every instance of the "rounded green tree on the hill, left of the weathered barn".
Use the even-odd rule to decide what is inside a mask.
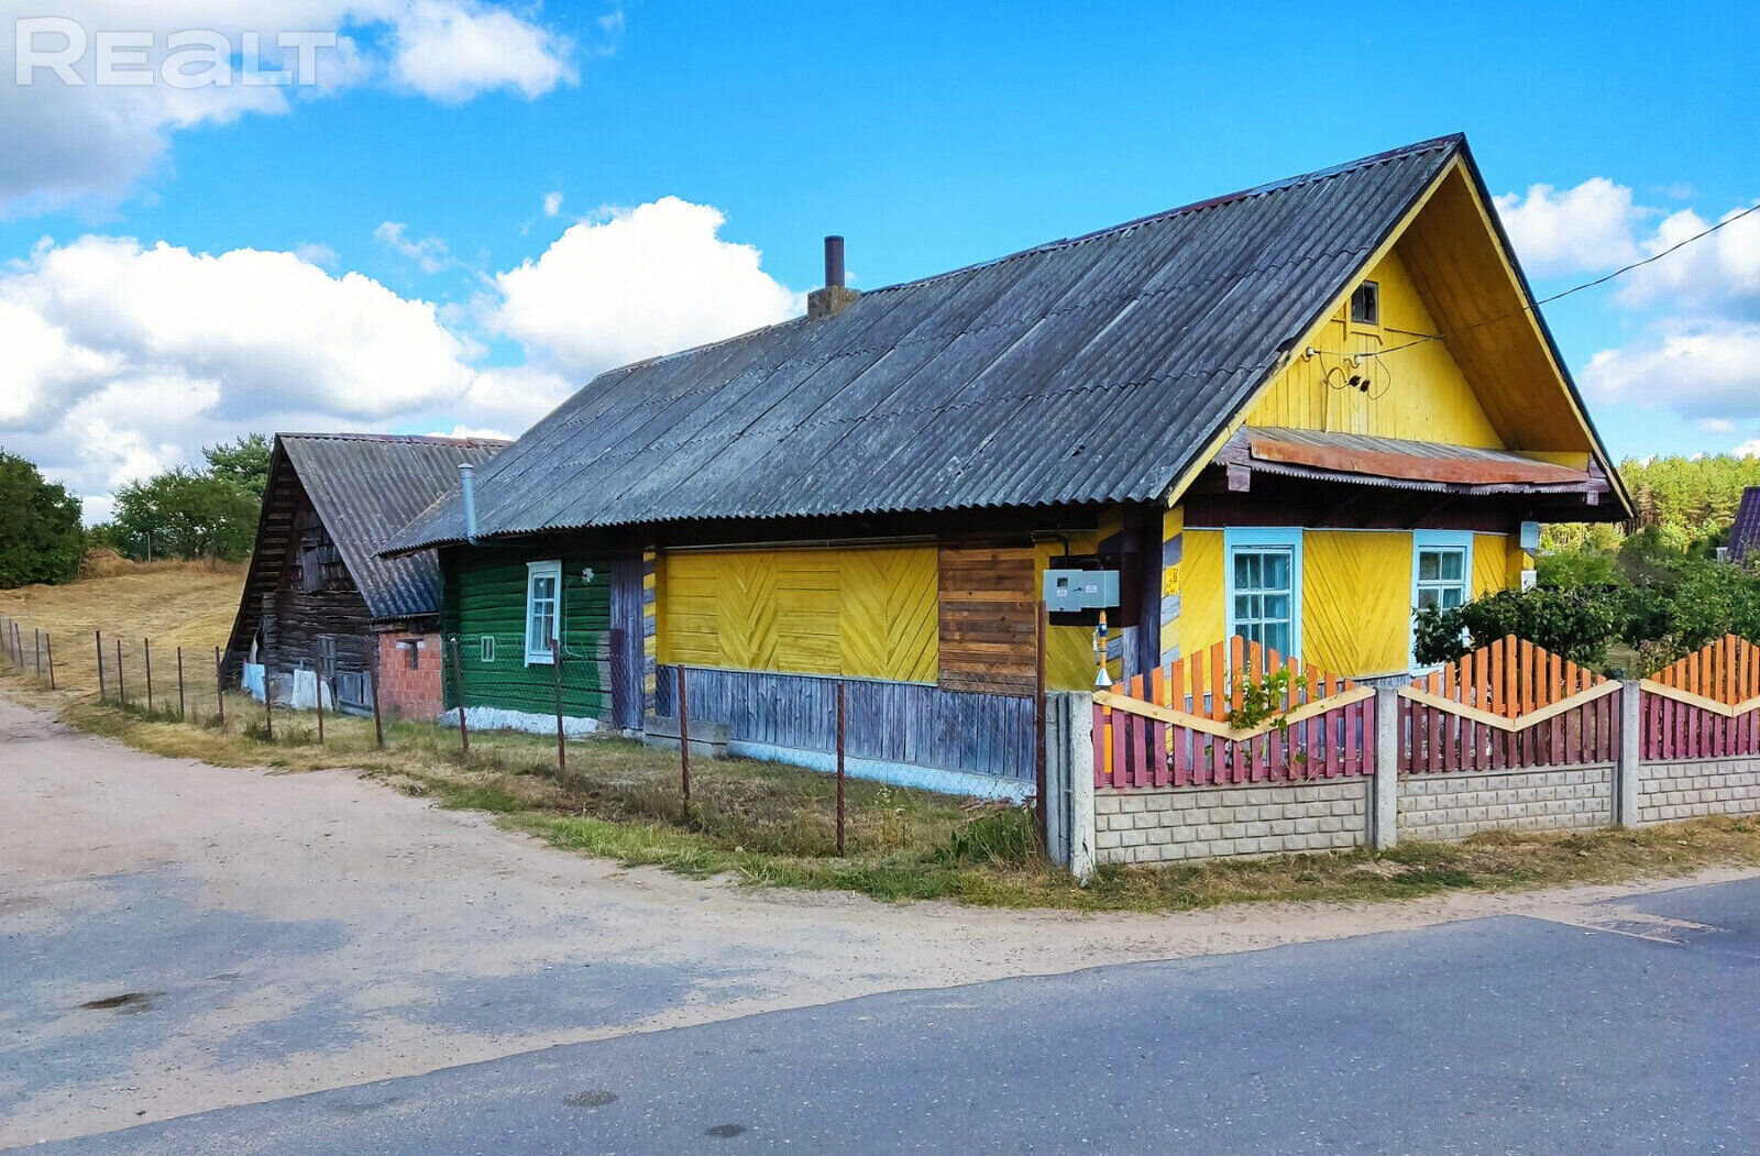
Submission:
[[[250,556],[260,501],[225,477],[171,470],[116,491],[116,537],[130,558]]]

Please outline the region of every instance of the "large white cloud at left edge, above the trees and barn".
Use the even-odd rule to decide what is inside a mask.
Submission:
[[[127,238],[39,245],[0,273],[0,443],[99,498],[243,429],[384,429],[463,398],[479,348],[292,253]]]

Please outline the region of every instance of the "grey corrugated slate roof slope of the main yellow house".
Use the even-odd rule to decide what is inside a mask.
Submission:
[[[611,369],[479,473],[479,537],[1160,500],[1463,151],[1426,141]],[[447,500],[396,549],[459,540]]]

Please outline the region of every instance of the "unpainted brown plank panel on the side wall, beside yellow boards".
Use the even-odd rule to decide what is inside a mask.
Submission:
[[[1033,691],[1038,591],[1031,544],[940,551],[943,690]]]

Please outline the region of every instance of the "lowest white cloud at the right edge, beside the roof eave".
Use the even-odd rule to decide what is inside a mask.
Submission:
[[[1711,422],[1760,417],[1760,324],[1667,320],[1632,347],[1602,350],[1580,377],[1603,401],[1668,405]]]

